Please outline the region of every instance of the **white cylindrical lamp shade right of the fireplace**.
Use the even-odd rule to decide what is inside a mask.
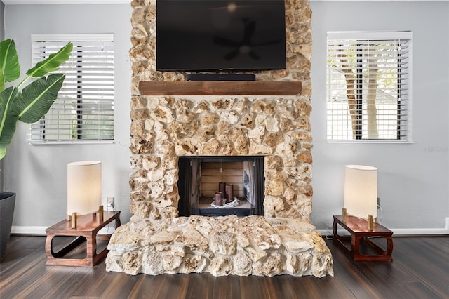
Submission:
[[[344,208],[356,217],[377,217],[377,168],[344,166]]]

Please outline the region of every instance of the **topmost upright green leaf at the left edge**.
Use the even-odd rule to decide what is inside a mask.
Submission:
[[[0,69],[4,77],[0,88],[4,86],[4,82],[12,82],[20,76],[19,59],[15,50],[15,42],[12,39],[0,42]],[[4,87],[0,91],[3,89]]]

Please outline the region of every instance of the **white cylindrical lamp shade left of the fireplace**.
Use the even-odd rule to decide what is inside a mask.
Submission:
[[[101,205],[101,162],[67,164],[67,215],[95,213]]]

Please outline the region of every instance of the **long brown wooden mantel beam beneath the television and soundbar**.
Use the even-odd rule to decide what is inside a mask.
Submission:
[[[142,95],[299,95],[299,81],[142,81]]]

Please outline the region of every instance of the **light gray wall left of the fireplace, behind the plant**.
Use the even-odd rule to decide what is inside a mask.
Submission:
[[[129,220],[131,11],[129,4],[6,5],[6,38],[15,40],[22,74],[31,67],[31,34],[113,33],[115,39],[116,142],[29,145],[29,125],[20,123],[5,159],[5,189],[17,192],[13,232],[44,232],[65,219],[72,161],[102,161],[102,201],[115,197],[122,222]]]

